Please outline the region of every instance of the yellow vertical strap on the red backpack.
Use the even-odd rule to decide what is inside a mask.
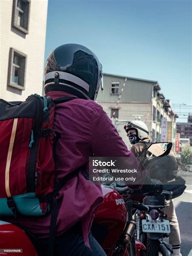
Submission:
[[[18,121],[18,118],[15,118],[13,121],[13,128],[12,128],[12,132],[11,132],[11,139],[10,139],[10,143],[9,143],[9,150],[8,150],[7,160],[6,160],[5,190],[6,190],[6,195],[8,197],[11,196],[11,192],[9,189],[9,170],[10,170],[10,165],[11,165],[11,156],[12,156],[12,152],[13,152],[13,145],[14,145],[14,141],[15,141],[15,133],[17,130],[17,121]]]

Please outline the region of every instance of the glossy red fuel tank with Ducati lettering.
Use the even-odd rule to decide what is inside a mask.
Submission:
[[[102,248],[110,249],[126,226],[127,208],[124,199],[117,191],[102,186],[102,193],[104,202],[95,214],[93,226],[100,227],[98,233],[101,233],[102,230],[102,234],[105,233],[104,241],[101,242]]]

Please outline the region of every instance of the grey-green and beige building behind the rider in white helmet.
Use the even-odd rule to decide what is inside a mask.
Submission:
[[[160,93],[158,81],[104,73],[104,92],[98,93],[98,104],[102,105],[109,117],[112,117],[126,78],[113,123],[127,146],[130,147],[130,144],[124,125],[126,121],[134,120],[136,117],[137,119],[140,117],[141,121],[147,124],[152,141],[161,141],[161,119],[166,118],[167,126],[169,126],[166,139],[175,143],[176,116],[171,110],[170,100],[166,100]]]

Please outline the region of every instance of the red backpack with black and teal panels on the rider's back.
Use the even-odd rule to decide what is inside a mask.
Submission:
[[[61,188],[55,181],[54,147],[60,138],[53,130],[55,105],[74,98],[0,99],[0,217],[41,216],[52,206],[50,239],[57,218],[54,196]]]

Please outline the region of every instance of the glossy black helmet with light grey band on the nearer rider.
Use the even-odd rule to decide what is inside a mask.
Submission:
[[[102,65],[96,55],[83,45],[61,45],[50,53],[45,64],[46,94],[63,91],[95,100],[101,79]]]

